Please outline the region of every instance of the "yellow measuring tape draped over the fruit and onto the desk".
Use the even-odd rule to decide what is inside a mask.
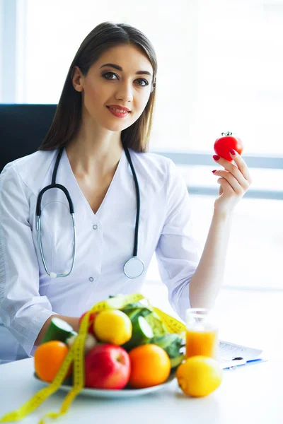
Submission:
[[[73,346],[69,349],[62,366],[57,372],[56,377],[53,382],[50,383],[48,387],[40,389],[37,393],[25,404],[18,408],[18,410],[7,413],[5,416],[0,418],[0,423],[11,423],[13,421],[18,421],[31,412],[33,412],[37,406],[40,406],[45,399],[51,396],[55,391],[59,389],[63,380],[65,379],[69,366],[73,363],[73,388],[69,391],[65,397],[61,409],[59,412],[50,412],[45,414],[42,417],[39,424],[45,424],[45,418],[57,418],[64,415],[69,409],[71,402],[74,401],[75,397],[79,394],[81,389],[83,389],[84,381],[84,343],[86,340],[86,334],[88,332],[88,319],[92,312],[101,312],[109,309],[122,309],[128,303],[138,302],[139,300],[144,299],[144,296],[139,293],[134,293],[132,295],[117,295],[115,298],[109,298],[108,300],[103,300],[102,302],[96,303],[93,305],[86,315],[81,320],[81,325],[79,328],[79,334],[76,336]],[[149,303],[149,302],[148,302]],[[150,303],[149,303],[149,306]],[[166,326],[166,329],[169,333],[181,333],[185,331],[185,325],[179,322],[177,319],[171,317],[165,312],[161,311],[157,307],[152,307],[154,312],[158,314],[163,321],[163,324]]]

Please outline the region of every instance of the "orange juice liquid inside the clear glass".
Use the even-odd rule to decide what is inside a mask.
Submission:
[[[186,330],[186,358],[195,355],[209,356],[216,359],[218,348],[218,330]]]

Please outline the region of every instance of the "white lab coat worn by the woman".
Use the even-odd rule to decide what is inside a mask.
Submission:
[[[69,190],[76,222],[76,259],[67,277],[50,278],[37,243],[35,208],[40,190],[51,184],[58,149],[37,151],[8,163],[0,175],[0,360],[27,358],[52,314],[79,317],[96,302],[141,290],[156,252],[168,300],[181,319],[190,307],[189,289],[200,260],[192,235],[190,199],[172,160],[129,149],[141,199],[138,257],[145,272],[125,276],[132,257],[137,211],[134,178],[125,152],[97,213],[93,213],[64,149],[57,179]],[[42,197],[42,247],[47,269],[71,267],[73,231],[69,204],[59,189]]]

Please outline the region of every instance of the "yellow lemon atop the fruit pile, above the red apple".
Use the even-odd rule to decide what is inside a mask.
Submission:
[[[96,316],[93,330],[100,341],[120,346],[132,337],[132,322],[120,310],[105,310]]]

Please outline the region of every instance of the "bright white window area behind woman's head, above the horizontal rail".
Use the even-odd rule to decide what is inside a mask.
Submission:
[[[246,153],[283,154],[282,0],[18,0],[16,102],[57,103],[104,20],[137,26],[156,49],[153,148],[211,151],[232,131]]]

